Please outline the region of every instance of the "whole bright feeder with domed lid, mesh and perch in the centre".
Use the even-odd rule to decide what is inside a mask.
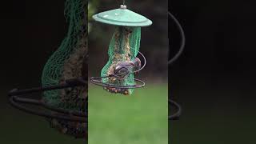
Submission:
[[[91,82],[103,86],[115,94],[130,95],[145,82],[134,78],[134,74],[146,66],[146,58],[139,52],[141,27],[152,22],[144,16],[128,10],[125,5],[119,9],[105,11],[93,16],[97,22],[116,26],[108,50],[109,61],[103,67],[101,77],[90,78]],[[144,64],[137,58],[140,54]]]

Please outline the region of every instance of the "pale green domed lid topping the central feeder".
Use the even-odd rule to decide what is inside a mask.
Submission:
[[[94,14],[94,20],[115,26],[150,26],[150,19],[126,9],[121,5],[119,9],[108,10],[102,13]]]

